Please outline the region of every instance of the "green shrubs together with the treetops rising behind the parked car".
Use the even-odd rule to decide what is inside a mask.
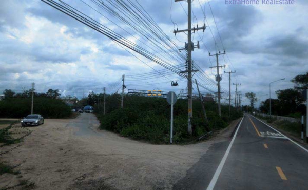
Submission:
[[[15,93],[4,91],[5,99],[0,101],[1,118],[22,118],[31,112],[31,90]],[[61,99],[57,90],[49,89],[46,93],[34,92],[33,113],[41,114],[44,118],[69,118],[71,108]]]

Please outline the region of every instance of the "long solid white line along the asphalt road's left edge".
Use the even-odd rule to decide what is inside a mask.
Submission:
[[[208,185],[208,187],[207,187],[206,190],[213,190],[213,189],[214,189],[215,184],[216,184],[216,182],[217,182],[217,180],[218,180],[218,177],[219,177],[219,175],[220,175],[220,173],[221,173],[221,170],[222,170],[222,168],[223,168],[223,166],[224,166],[224,163],[226,162],[226,159],[227,159],[227,157],[228,157],[228,155],[229,155],[229,153],[230,153],[230,149],[231,149],[231,147],[232,147],[232,145],[233,145],[233,142],[234,142],[234,140],[235,140],[235,137],[236,137],[236,135],[237,135],[237,132],[239,131],[239,128],[240,128],[240,126],[241,126],[241,124],[242,124],[243,119],[244,119],[244,117],[242,118],[242,120],[241,120],[241,122],[240,122],[238,128],[236,129],[235,134],[234,134],[234,136],[233,136],[233,138],[232,138],[232,141],[230,142],[230,144],[229,144],[229,146],[228,146],[228,148],[227,148],[227,150],[226,150],[226,152],[225,152],[225,154],[224,154],[222,160],[220,161],[220,164],[219,164],[218,168],[216,169],[216,172],[215,172],[213,178],[211,179],[211,181],[210,181],[210,183],[209,183],[209,185]]]

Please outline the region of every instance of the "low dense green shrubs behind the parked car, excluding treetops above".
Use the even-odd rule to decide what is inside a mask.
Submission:
[[[31,113],[30,98],[11,98],[0,101],[0,117],[22,118]],[[71,108],[62,100],[48,97],[36,97],[33,103],[33,113],[44,118],[66,118],[71,114]]]

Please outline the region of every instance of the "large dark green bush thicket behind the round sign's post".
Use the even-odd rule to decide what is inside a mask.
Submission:
[[[200,100],[194,100],[192,135],[187,133],[187,100],[179,99],[174,105],[174,143],[194,141],[209,131],[228,126],[228,123],[241,117],[240,112],[232,111],[228,116],[228,106],[222,106],[222,117],[218,116],[215,102],[205,103],[208,123],[204,119]],[[144,140],[153,144],[168,144],[170,141],[170,105],[166,99],[143,96],[125,96],[121,109],[120,94],[106,96],[106,115],[103,105],[95,107],[101,122],[101,129],[117,132],[125,137]]]

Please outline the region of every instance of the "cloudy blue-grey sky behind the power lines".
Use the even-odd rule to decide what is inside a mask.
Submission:
[[[124,31],[128,31],[129,26],[90,0],[64,2],[152,52],[150,42],[141,43],[142,36],[138,33],[129,35]],[[108,0],[102,2],[108,3]],[[177,47],[184,46],[187,35],[178,33],[175,36],[172,31],[175,27],[179,30],[187,28],[185,1],[131,2],[138,2]],[[219,64],[226,65],[220,69],[223,103],[228,102],[229,76],[224,72],[229,68],[236,70],[232,74],[232,84],[241,84],[239,90],[243,95],[254,92],[263,101],[269,98],[269,83],[282,78],[285,80],[272,84],[272,98],[276,98],[276,90],[292,88],[294,84],[290,80],[308,71],[306,10],[308,1],[305,0],[295,0],[294,5],[227,5],[224,0],[209,3],[194,0],[192,25],[196,27],[198,23],[200,27],[205,23],[206,29],[192,35],[195,45],[200,41],[200,49],[195,48],[192,59],[202,68],[199,72],[213,83],[209,85],[195,74],[198,83],[207,86],[207,89],[200,88],[202,93],[217,91],[217,70],[209,68],[216,64],[216,59],[209,57],[208,52],[215,54],[223,50],[227,53],[219,56]],[[170,60],[170,63],[185,67],[184,62],[177,60]],[[89,91],[102,93],[104,87],[107,93],[120,92],[123,74],[126,76],[125,92],[128,89],[186,91],[187,80],[172,72],[168,79],[160,74],[156,75],[159,78],[136,78],[137,74],[153,72],[153,69],[164,67],[121,47],[42,1],[0,1],[0,93],[4,89],[19,93],[31,88],[34,82],[38,92],[53,88],[60,89],[62,96],[82,98]],[[177,81],[179,86],[171,87],[171,81]],[[232,85],[232,98],[234,92],[235,85]],[[249,104],[249,101],[243,98],[243,104]]]

